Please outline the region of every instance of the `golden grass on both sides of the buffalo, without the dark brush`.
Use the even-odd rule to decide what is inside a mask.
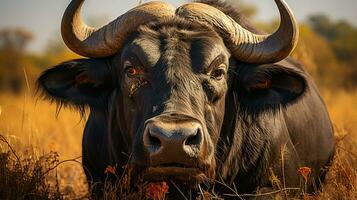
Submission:
[[[321,93],[335,126],[337,154],[322,193],[303,198],[357,199],[357,91],[325,89]],[[56,105],[34,97],[31,85],[20,96],[0,94],[0,135],[6,138],[17,156],[36,161],[50,152],[58,153],[59,157],[54,156],[52,166],[43,169],[50,169],[45,176],[46,184],[53,188],[58,186],[57,195],[60,196],[53,195],[54,199],[88,197],[82,167],[79,162],[71,160],[80,161],[84,123],[77,112],[66,108],[56,117]],[[12,151],[3,140],[0,141],[0,153]],[[69,161],[56,167],[58,161],[63,160]],[[0,172],[0,178],[4,178],[1,176],[7,175]],[[4,192],[2,187],[6,187],[1,184],[0,194]]]

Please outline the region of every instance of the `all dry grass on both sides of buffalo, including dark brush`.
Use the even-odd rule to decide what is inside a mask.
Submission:
[[[5,136],[0,142],[0,199],[88,198],[80,159],[72,160],[81,155],[84,121],[68,109],[56,117],[55,105],[36,101],[29,93],[0,94],[0,134]],[[337,155],[323,191],[302,198],[357,199],[357,91],[322,94],[335,126]],[[116,190],[110,185],[107,189]],[[107,195],[118,197],[113,192]]]

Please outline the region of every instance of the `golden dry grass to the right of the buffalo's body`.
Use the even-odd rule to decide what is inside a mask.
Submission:
[[[337,139],[320,199],[357,199],[357,91],[323,91]]]

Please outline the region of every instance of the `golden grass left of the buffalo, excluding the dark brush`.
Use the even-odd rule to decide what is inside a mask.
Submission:
[[[62,109],[57,117],[55,113],[55,105],[41,100],[36,101],[29,92],[22,96],[0,94],[0,134],[5,136],[16,151],[21,159],[20,162],[28,159],[32,162],[31,165],[35,165],[44,155],[48,156],[51,152],[57,152],[59,155],[56,162],[52,163],[54,165],[58,164],[59,160],[70,160],[81,156],[84,122],[76,112],[67,109]],[[4,156],[4,153],[9,152],[8,145],[0,142],[0,151]],[[10,154],[8,157],[13,159],[13,156]],[[8,165],[16,167],[16,163],[13,162]],[[53,176],[56,171],[60,192],[65,194],[64,198],[81,197],[87,194],[85,175],[80,164],[61,163],[51,171],[50,176],[46,176],[49,182],[56,182],[56,177]],[[28,175],[31,176],[31,173],[29,172]],[[1,189],[0,199],[3,199]]]

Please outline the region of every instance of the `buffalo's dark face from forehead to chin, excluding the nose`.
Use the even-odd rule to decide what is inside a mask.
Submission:
[[[149,29],[139,31],[138,36],[124,48],[120,60],[115,62],[120,63],[116,64],[119,74],[125,74],[123,66],[126,61],[142,67],[143,72],[138,77],[126,75],[119,80],[121,95],[116,95],[114,102],[123,102],[125,105],[120,112],[125,114],[119,115],[118,119],[123,122],[121,126],[127,127],[125,134],[131,133],[129,144],[132,145],[129,149],[132,148],[133,164],[182,163],[208,168],[208,173],[212,174],[215,168],[213,147],[217,143],[224,116],[222,109],[228,87],[229,53],[214,32],[208,32],[213,37],[207,37],[205,32],[190,32],[188,29],[191,27],[182,30],[163,27],[153,35],[149,34]],[[160,48],[165,52],[160,53]],[[219,77],[213,77],[212,73],[217,73]],[[148,83],[131,95],[130,88],[141,78]],[[148,120],[174,121],[175,125],[183,121],[196,121],[202,125],[204,144],[199,150],[202,152],[197,155],[193,153],[195,155],[190,157],[193,160],[187,163],[188,157],[185,155],[182,155],[182,160],[169,161],[167,159],[172,155],[166,155],[165,161],[155,158],[150,161],[143,144],[143,132]]]

